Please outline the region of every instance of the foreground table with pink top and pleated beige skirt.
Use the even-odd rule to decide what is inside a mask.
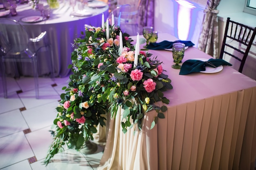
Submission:
[[[132,37],[136,40],[135,37]],[[159,34],[158,42],[177,40]],[[142,45],[141,45],[142,47]],[[116,119],[108,119],[107,143],[99,170],[253,170],[256,158],[256,81],[229,66],[217,73],[179,75],[172,52],[149,50],[163,61],[173,89],[164,119],[150,130],[157,112],[144,116],[141,131],[126,134]],[[189,47],[183,62],[211,56]]]

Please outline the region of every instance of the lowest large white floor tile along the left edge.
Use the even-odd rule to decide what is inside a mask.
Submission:
[[[34,157],[23,132],[2,137],[0,140],[0,168]]]

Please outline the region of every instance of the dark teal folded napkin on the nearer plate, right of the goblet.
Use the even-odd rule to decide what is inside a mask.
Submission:
[[[186,75],[193,72],[205,71],[206,66],[210,66],[214,68],[214,67],[219,67],[220,65],[231,66],[230,63],[222,59],[211,58],[208,61],[186,60],[180,68],[180,75]]]

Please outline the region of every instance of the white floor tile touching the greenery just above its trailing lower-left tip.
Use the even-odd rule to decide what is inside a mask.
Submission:
[[[46,157],[49,145],[53,141],[51,133],[49,132],[50,128],[51,127],[49,126],[26,134],[27,140],[29,141],[37,160]]]

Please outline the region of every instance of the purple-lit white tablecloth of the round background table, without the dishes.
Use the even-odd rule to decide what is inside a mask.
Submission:
[[[104,3],[96,0],[88,3],[95,2]],[[40,0],[40,3],[47,5],[46,0]],[[75,10],[77,8],[76,5]],[[102,13],[104,13],[105,20],[108,16],[108,4],[100,8],[86,7],[85,9],[92,15],[72,17],[70,16],[72,7],[69,4],[69,0],[63,0],[58,9],[51,9],[49,19],[37,23],[25,23],[21,22],[20,18],[40,16],[41,13],[39,10],[32,9],[32,6],[29,4],[18,4],[16,9],[17,16],[11,16],[9,14],[7,18],[17,20],[24,25],[30,37],[36,37],[41,32],[47,31],[47,37],[52,49],[55,76],[67,76],[70,72],[67,66],[71,64],[72,43],[74,43],[74,39],[79,38],[81,31],[85,30],[85,24],[101,27]],[[39,60],[38,63],[39,75],[49,73],[49,66],[47,66],[47,62],[44,59]],[[13,74],[12,68],[11,66],[7,67],[7,74]],[[31,67],[27,63],[22,64],[22,70],[20,72],[25,76],[33,75]]]

